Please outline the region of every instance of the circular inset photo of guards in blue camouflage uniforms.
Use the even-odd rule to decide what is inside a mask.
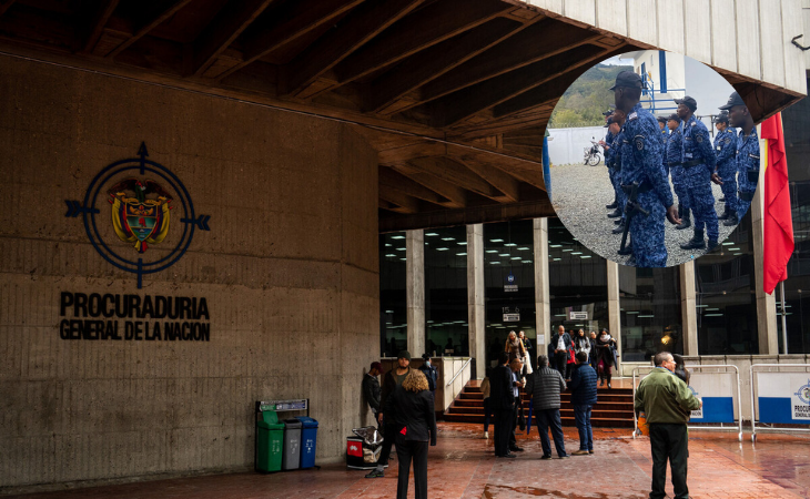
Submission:
[[[557,215],[624,265],[679,265],[712,251],[757,189],[759,138],[746,103],[686,55],[645,50],[596,64],[547,130]]]

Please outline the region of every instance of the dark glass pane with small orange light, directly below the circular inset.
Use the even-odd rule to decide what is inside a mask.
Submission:
[[[619,265],[622,360],[647,361],[659,352],[684,353],[679,267]]]

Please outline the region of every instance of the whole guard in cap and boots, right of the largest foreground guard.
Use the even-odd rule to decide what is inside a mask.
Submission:
[[[702,249],[706,247],[703,226],[709,236],[709,251],[718,245],[720,227],[715,211],[715,195],[711,193],[712,173],[717,164],[717,156],[711,149],[709,131],[703,122],[695,118],[698,103],[689,95],[676,99],[678,116],[684,120],[684,155],[681,159],[685,174],[689,205],[695,214],[695,234],[681,249]],[[717,179],[717,177],[715,177]]]

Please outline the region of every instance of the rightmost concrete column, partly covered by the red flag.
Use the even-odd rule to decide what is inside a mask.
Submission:
[[[760,126],[757,126],[757,133],[761,136]],[[759,141],[759,150],[765,151],[765,141]],[[765,154],[760,154],[759,182],[757,194],[751,201],[751,225],[753,236],[753,273],[755,286],[757,291],[757,334],[759,336],[759,355],[777,355],[779,354],[779,337],[777,332],[777,308],[776,294],[766,294],[762,291],[763,268],[762,252],[765,249],[765,203],[762,194],[765,193]]]

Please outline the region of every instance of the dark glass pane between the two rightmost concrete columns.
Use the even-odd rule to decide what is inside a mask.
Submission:
[[[751,213],[721,245],[695,261],[699,355],[758,354]]]

